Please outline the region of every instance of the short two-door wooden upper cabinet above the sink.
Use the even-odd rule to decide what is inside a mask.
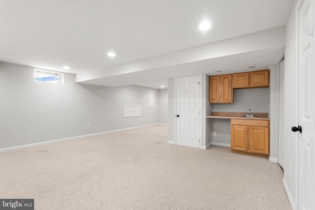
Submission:
[[[233,74],[233,88],[269,87],[269,69]]]

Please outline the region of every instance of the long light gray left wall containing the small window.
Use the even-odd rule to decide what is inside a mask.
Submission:
[[[64,85],[37,83],[33,71],[1,62],[0,149],[159,122],[156,89],[78,84],[73,74],[64,74]],[[125,104],[141,105],[141,117],[124,118]]]

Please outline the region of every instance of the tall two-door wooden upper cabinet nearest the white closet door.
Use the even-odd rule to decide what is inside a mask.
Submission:
[[[209,102],[233,103],[232,74],[209,77]]]

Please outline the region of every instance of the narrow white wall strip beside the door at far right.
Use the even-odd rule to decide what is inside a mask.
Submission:
[[[298,209],[297,205],[297,151],[298,139],[291,131],[292,126],[298,125],[297,111],[297,4],[295,0],[286,24],[286,46],[284,60],[284,187],[287,192],[291,207]],[[290,160],[290,168],[288,167]]]

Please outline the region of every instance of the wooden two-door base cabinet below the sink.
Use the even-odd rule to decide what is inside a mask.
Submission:
[[[269,120],[231,119],[231,151],[269,156]]]

